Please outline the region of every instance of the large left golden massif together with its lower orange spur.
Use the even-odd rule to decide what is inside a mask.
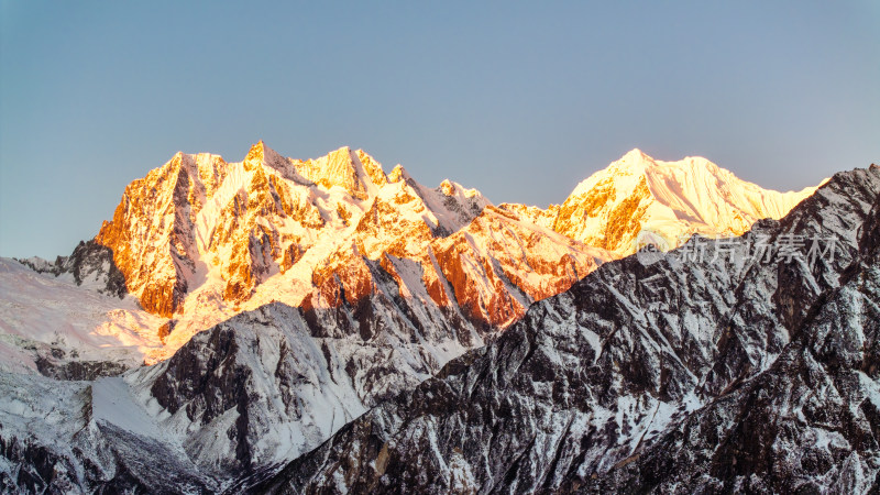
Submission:
[[[499,229],[509,223],[506,231],[514,238],[535,239],[519,255],[496,252],[497,243],[481,243],[469,254],[480,265],[463,263],[454,249],[441,254],[457,246],[440,241],[466,228],[487,206],[480,191],[452,180],[425,187],[399,165],[386,175],[363,150],[342,146],[296,160],[258,141],[240,163],[176,154],[127,187],[95,241],[112,253],[142,307],[174,321],[174,331],[163,336],[166,349],[147,361],[167,358],[193,333],[272,300],[355,304],[376,284],[367,261],[394,256],[415,263],[419,268],[408,275],[409,283],[425,284],[433,304],[466,306],[469,318],[491,328],[605,258],[561,237],[540,243],[538,234],[510,219],[496,223]],[[480,235],[492,233],[481,230]],[[552,248],[563,240],[564,246]],[[541,244],[538,252],[535,246]],[[391,270],[394,262],[388,263]],[[571,272],[576,276],[560,282],[561,267],[569,265],[576,266]],[[465,289],[464,273],[492,282]],[[521,290],[512,296],[515,286]],[[514,316],[502,307],[515,308]]]

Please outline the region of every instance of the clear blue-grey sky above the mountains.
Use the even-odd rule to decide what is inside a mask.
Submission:
[[[366,3],[0,0],[0,255],[260,139],[539,206],[632,147],[777,189],[880,162],[875,0]]]

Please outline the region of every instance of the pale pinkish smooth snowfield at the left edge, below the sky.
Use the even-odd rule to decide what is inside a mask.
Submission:
[[[0,370],[90,380],[140,366],[162,348],[154,329],[163,318],[95,290],[103,279],[81,276],[77,286],[79,273],[46,276],[0,257]]]

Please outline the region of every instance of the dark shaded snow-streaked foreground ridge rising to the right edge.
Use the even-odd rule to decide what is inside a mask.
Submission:
[[[880,167],[705,244],[603,265],[252,490],[880,490]]]

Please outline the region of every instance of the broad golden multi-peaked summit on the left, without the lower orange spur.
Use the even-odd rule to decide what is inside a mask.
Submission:
[[[432,239],[490,205],[474,189],[446,188],[421,186],[400,166],[386,176],[363,150],[294,160],[261,140],[240,163],[175,154],[125,189],[95,241],[143,308],[174,319],[172,352],[241,310],[300,305],[331,256],[377,260],[391,251],[427,263]]]

